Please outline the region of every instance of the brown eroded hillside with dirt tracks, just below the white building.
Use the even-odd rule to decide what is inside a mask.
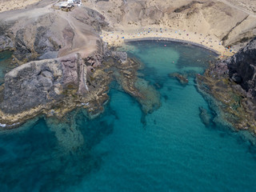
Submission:
[[[100,38],[94,26],[104,27],[102,18],[83,6],[70,12],[54,10],[47,1],[51,2],[0,13],[0,38],[13,41],[17,62],[56,57],[56,51],[58,57],[80,53],[82,58],[97,52]]]

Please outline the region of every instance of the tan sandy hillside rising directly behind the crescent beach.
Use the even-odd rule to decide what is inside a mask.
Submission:
[[[84,1],[98,10],[114,30],[141,30],[148,26],[212,35],[224,46],[237,45],[256,35],[254,0],[109,0]],[[113,30],[113,31],[114,31]]]

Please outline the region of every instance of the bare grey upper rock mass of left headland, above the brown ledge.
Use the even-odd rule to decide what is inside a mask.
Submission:
[[[11,70],[5,77],[2,111],[18,114],[34,106],[58,101],[63,98],[66,88],[79,86],[86,91],[85,82],[79,81],[78,72],[83,68],[82,58],[74,54],[54,60],[29,62]],[[83,86],[79,83],[83,83]]]

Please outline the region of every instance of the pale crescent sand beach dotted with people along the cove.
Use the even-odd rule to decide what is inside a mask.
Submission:
[[[162,28],[162,30],[160,30]],[[150,31],[150,33],[148,33]],[[161,32],[162,31],[162,32]],[[213,36],[206,34],[197,34],[186,30],[174,30],[165,27],[146,27],[139,30],[119,30],[119,31],[102,31],[102,40],[108,42],[110,46],[122,46],[125,40],[129,39],[142,39],[142,38],[154,38],[163,40],[182,40],[191,44],[202,45],[205,48],[214,50],[220,57],[231,56],[237,52],[237,50],[227,50],[226,47],[222,46],[222,42]]]

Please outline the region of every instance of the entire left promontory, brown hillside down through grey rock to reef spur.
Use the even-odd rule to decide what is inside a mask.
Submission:
[[[18,66],[0,87],[4,129],[41,114],[62,119],[77,108],[94,118],[104,110],[113,80],[141,103],[144,113],[160,106],[154,87],[137,77],[140,63],[102,42],[99,34],[109,26],[96,10],[14,10],[0,14],[0,21],[1,50],[14,50]]]

